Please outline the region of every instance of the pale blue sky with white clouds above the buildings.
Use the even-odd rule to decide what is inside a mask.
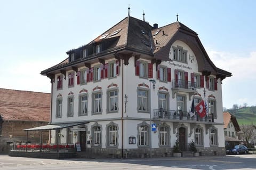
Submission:
[[[223,107],[256,106],[256,1],[0,0],[0,87],[51,92],[40,72],[67,58],[130,15],[162,27],[179,21],[196,31],[222,81]]]

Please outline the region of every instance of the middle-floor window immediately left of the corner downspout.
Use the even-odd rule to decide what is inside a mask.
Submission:
[[[117,89],[108,91],[108,111],[118,110],[118,91]]]

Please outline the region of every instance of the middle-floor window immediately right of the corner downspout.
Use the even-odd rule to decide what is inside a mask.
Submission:
[[[149,111],[149,96],[147,90],[138,90],[138,111]]]

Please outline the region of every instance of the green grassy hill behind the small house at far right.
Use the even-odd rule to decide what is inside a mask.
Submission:
[[[256,107],[243,107],[241,109],[229,109],[231,114],[236,116],[239,125],[256,125]]]

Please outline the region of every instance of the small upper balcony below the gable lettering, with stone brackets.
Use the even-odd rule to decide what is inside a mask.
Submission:
[[[189,94],[189,100],[191,96],[196,92],[196,83],[191,83],[190,81],[183,79],[173,79],[172,80],[172,98],[174,99],[175,93],[185,92]]]

